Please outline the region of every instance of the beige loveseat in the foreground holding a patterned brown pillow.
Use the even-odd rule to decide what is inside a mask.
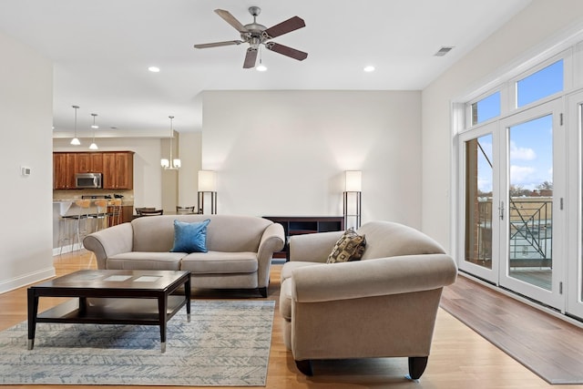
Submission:
[[[455,261],[424,233],[374,221],[361,261],[326,263],[343,232],[292,236],[281,270],[284,343],[297,367],[312,360],[408,357],[409,375],[424,373],[435,316]]]

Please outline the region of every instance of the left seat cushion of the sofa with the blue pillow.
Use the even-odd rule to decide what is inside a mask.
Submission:
[[[148,216],[153,218],[153,216]],[[179,271],[186,252],[128,251],[107,258],[107,269]]]

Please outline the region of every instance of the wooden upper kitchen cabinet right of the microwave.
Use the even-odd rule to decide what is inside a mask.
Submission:
[[[134,152],[103,153],[103,189],[134,189]]]

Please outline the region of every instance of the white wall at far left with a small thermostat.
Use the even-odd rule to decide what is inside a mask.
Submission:
[[[54,275],[53,66],[0,33],[0,292]],[[21,166],[31,169],[23,177]]]

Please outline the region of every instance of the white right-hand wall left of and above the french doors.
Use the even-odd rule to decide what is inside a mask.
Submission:
[[[449,248],[455,240],[451,189],[451,103],[473,87],[496,81],[501,69],[517,66],[557,44],[583,21],[580,0],[533,0],[531,5],[489,36],[423,91],[423,230]]]

